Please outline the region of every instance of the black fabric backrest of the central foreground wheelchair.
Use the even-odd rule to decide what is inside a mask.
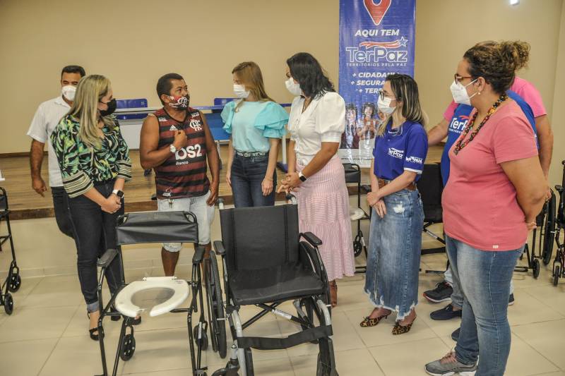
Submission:
[[[297,205],[220,210],[227,270],[256,270],[299,260]]]

